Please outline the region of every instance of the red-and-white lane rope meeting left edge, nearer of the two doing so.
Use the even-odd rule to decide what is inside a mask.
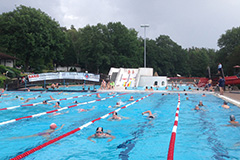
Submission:
[[[39,117],[39,116],[42,116],[42,115],[45,115],[45,114],[49,114],[49,113],[53,113],[53,112],[57,112],[57,111],[62,111],[62,110],[65,110],[65,109],[69,109],[69,108],[76,107],[76,106],[85,105],[85,104],[90,104],[90,103],[94,103],[94,102],[97,102],[97,101],[103,101],[103,100],[106,100],[106,99],[109,99],[109,98],[114,98],[114,97],[117,97],[117,96],[120,96],[120,95],[125,95],[125,94],[127,94],[127,93],[122,93],[122,94],[119,94],[119,95],[114,95],[114,96],[110,96],[110,97],[105,97],[105,98],[102,98],[102,99],[96,99],[96,100],[92,100],[92,101],[89,101],[89,102],[82,102],[82,103],[78,103],[78,104],[71,105],[71,106],[68,106],[68,107],[63,107],[63,108],[60,108],[60,109],[51,110],[51,111],[48,111],[48,112],[37,113],[37,114],[31,115],[31,116],[25,116],[25,117],[20,117],[20,118],[12,119],[12,120],[9,120],[9,121],[1,122],[1,123],[0,123],[0,126],[1,126],[1,125],[4,125],[4,124],[16,122],[16,121],[19,121],[19,120],[22,120],[22,119]]]

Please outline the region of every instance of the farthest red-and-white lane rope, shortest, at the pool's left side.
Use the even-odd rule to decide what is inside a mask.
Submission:
[[[87,97],[87,96],[92,96],[92,95],[95,95],[95,94],[96,93],[86,94],[86,95],[81,95],[81,96],[68,97],[68,98],[54,99],[54,100],[49,100],[48,102],[63,101],[63,100],[69,100],[69,99],[73,99],[73,98]],[[19,108],[19,107],[36,106],[36,105],[39,105],[39,104],[43,104],[43,102],[32,103],[32,104],[23,104],[23,105],[8,107],[8,108],[0,108],[0,111],[15,109],[15,108]]]

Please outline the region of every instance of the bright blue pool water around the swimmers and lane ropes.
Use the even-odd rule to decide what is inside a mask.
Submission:
[[[22,104],[19,99],[13,100],[16,95],[21,95],[24,99],[38,96],[36,100],[29,101],[36,103],[54,98],[68,98],[88,93],[40,93],[40,92],[7,92],[9,97],[1,98],[0,108]],[[0,126],[0,159],[10,159],[37,147],[47,140],[44,137],[31,137],[24,139],[13,139],[12,137],[33,135],[49,128],[51,123],[58,126],[65,124],[62,130],[51,134],[51,138],[56,138],[83,124],[101,117],[115,108],[116,102],[129,104],[132,95],[135,99],[148,95],[145,93],[129,93],[115,98],[97,101],[95,103],[81,105],[68,109],[69,113],[53,116],[43,115],[37,118],[23,119],[17,122]],[[101,93],[101,97],[108,97],[107,93]],[[174,158],[176,160],[186,159],[239,159],[240,157],[240,127],[228,125],[229,115],[234,114],[236,119],[240,119],[240,109],[230,105],[231,109],[223,109],[220,106],[223,100],[213,95],[201,97],[201,94],[188,94],[186,100],[184,94],[180,94],[181,104],[179,112],[179,122],[175,142]],[[60,102],[61,107],[73,105],[73,101],[88,102],[97,99],[95,95],[81,97]],[[192,110],[198,102],[202,100],[205,111]],[[171,93],[162,95],[154,93],[128,108],[122,109],[118,115],[128,117],[121,121],[108,121],[101,119],[92,125],[68,136],[60,141],[51,144],[24,159],[29,160],[53,160],[53,159],[167,159],[168,147],[171,138],[172,127],[175,119],[175,112],[178,103],[178,95]],[[89,112],[80,112],[78,109],[95,109]],[[123,106],[123,105],[122,105]],[[0,111],[0,122],[24,117],[36,113],[53,110],[52,105],[39,104],[37,106],[20,107],[13,110]],[[151,110],[156,114],[156,119],[148,120],[141,113]],[[63,110],[61,112],[66,112]],[[105,131],[110,130],[116,136],[111,142],[107,139],[94,139],[96,143],[87,140],[87,137],[94,134],[97,127],[103,127]]]

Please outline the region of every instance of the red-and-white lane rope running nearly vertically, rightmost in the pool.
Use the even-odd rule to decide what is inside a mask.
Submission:
[[[171,135],[171,140],[169,143],[169,148],[168,148],[168,160],[173,160],[173,155],[174,155],[174,145],[175,145],[175,139],[176,139],[176,132],[177,132],[177,126],[178,126],[178,115],[179,115],[179,108],[180,108],[180,94],[178,93],[178,105],[177,105],[177,111],[175,114],[175,121],[172,129],[172,135]]]

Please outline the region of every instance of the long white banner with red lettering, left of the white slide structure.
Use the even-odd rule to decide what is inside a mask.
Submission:
[[[53,79],[76,79],[99,82],[100,75],[92,73],[80,72],[57,72],[57,73],[41,73],[28,75],[29,82],[53,80]]]

